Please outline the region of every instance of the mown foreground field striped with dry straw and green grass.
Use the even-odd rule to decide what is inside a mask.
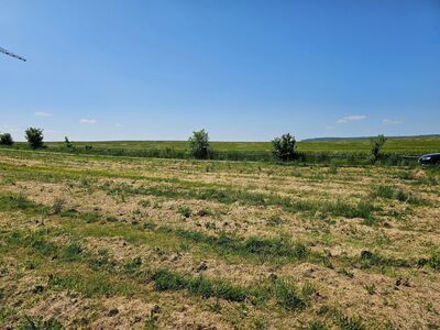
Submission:
[[[439,188],[420,167],[0,151],[0,328],[438,329]]]

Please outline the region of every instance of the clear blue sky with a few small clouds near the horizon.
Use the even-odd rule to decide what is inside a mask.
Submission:
[[[440,1],[1,0],[22,140],[440,133]]]

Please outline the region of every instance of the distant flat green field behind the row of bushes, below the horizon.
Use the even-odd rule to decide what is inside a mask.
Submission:
[[[24,143],[18,143],[25,146]],[[63,142],[48,142],[47,146],[63,146]],[[105,142],[74,142],[74,145],[81,147],[91,145],[98,148],[121,148],[121,150],[187,150],[187,141],[105,141]],[[271,142],[211,142],[212,148],[218,152],[271,152]],[[370,140],[346,140],[346,141],[305,141],[297,143],[300,152],[324,152],[345,154],[370,154]],[[421,155],[426,153],[440,152],[440,138],[408,138],[389,139],[384,146],[384,153],[400,155]]]

